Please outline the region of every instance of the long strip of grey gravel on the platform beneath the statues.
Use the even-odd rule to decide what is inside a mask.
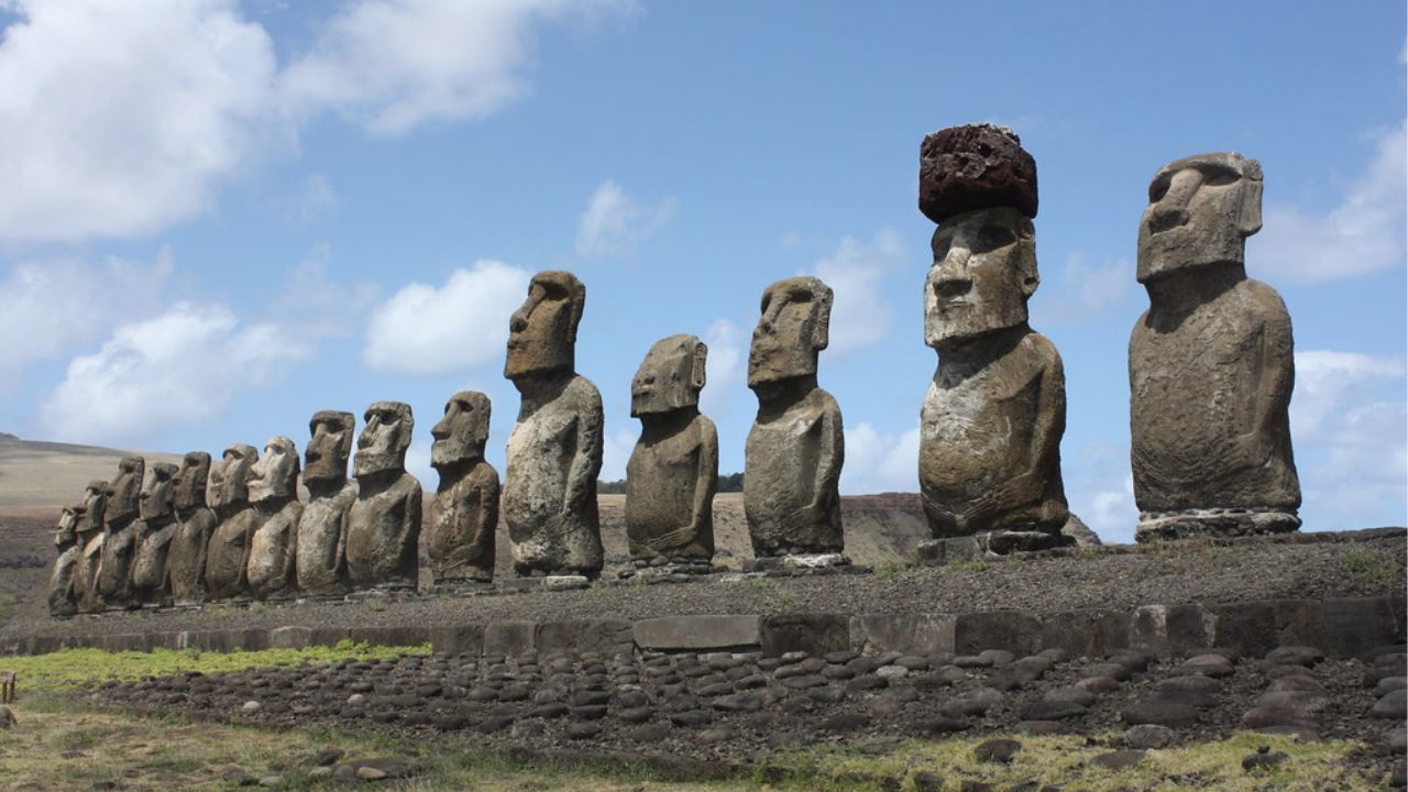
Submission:
[[[1225,544],[1077,550],[1060,557],[1008,558],[943,568],[881,567],[873,574],[708,579],[687,583],[597,583],[586,590],[406,600],[208,605],[49,619],[42,590],[3,629],[8,636],[272,629],[280,626],[435,626],[527,619],[625,620],[719,613],[969,613],[1017,609],[1033,614],[1076,609],[1277,598],[1402,595],[1405,531],[1293,534]]]

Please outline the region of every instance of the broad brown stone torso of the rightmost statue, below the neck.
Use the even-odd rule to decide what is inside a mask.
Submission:
[[[1180,316],[1153,307],[1129,338],[1129,428],[1142,512],[1300,506],[1287,406],[1286,304],[1242,280]]]

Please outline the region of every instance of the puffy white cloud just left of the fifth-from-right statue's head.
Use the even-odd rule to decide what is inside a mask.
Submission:
[[[362,361],[413,376],[456,373],[498,359],[529,272],[482,259],[444,286],[411,283],[372,311]]]

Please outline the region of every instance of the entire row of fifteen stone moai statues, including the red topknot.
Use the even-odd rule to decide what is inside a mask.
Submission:
[[[1300,527],[1290,317],[1243,266],[1260,199],[1260,166],[1236,154],[1178,159],[1150,185],[1138,264],[1150,307],[1129,342],[1140,540]],[[977,537],[994,552],[1069,543],[1064,373],[1026,309],[1039,283],[1035,161],[1002,127],[941,130],[921,145],[919,209],[938,225],[924,287],[938,369],[919,416],[918,471],[934,538]],[[759,559],[848,564],[841,409],[817,383],[831,304],[817,278],[763,292],[743,475]],[[353,416],[313,417],[303,500],[287,437],[263,457],[231,445],[214,466],[203,452],[180,468],[152,465],[145,489],[142,459],[128,458],[111,485],[93,482],[65,509],[52,610],[413,588],[421,555],[438,586],[482,585],[493,579],[500,510],[518,575],[596,578],[604,417],[597,388],[576,372],[584,306],[576,276],[541,272],[510,320],[504,376],[521,406],[501,493],[484,461],[490,402],[477,392],[451,397],[431,433],[441,481],[424,536],[421,485],[404,468],[414,419],[398,402],[367,407],[353,479]],[[632,379],[642,431],[627,465],[625,526],[636,567],[712,568],[718,435],[698,410],[707,355],[697,337],[670,335]]]

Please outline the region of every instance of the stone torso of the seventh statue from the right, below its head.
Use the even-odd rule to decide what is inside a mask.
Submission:
[[[359,483],[348,512],[346,561],[353,586],[415,586],[417,543],[421,530],[421,483],[400,474],[389,486],[373,490]]]

